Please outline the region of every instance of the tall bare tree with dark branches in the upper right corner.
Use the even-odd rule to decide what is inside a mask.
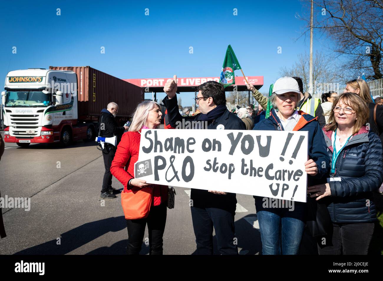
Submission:
[[[364,72],[367,79],[383,78],[383,0],[314,0],[314,7],[314,33],[333,41],[330,48],[344,61],[343,77]],[[300,18],[309,28],[309,15]]]

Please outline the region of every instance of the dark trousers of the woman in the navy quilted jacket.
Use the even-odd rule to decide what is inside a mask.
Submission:
[[[332,224],[334,232],[331,241],[327,241],[328,246],[322,246],[322,249],[318,245],[319,255],[367,255],[374,223]]]

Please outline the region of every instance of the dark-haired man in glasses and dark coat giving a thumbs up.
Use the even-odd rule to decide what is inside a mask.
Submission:
[[[162,101],[172,127],[178,128],[179,122],[202,121],[207,129],[246,130],[245,124],[226,108],[225,90],[222,84],[208,81],[198,86],[196,102],[201,114],[181,116],[178,112],[177,76],[165,84],[167,97]],[[185,121],[183,121],[184,119]],[[178,125],[178,126],[177,126]],[[234,215],[236,211],[236,194],[216,190],[191,189],[191,219],[197,244],[197,255],[213,254],[213,227],[216,232],[217,246],[221,254],[238,255],[234,237]]]

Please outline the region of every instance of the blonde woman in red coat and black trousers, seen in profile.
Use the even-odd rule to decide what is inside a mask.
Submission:
[[[141,219],[126,219],[128,228],[128,254],[137,255],[141,250],[145,227],[149,229],[149,247],[151,255],[162,255],[162,245],[166,223],[166,207],[168,187],[165,185],[149,185],[146,180],[134,178],[134,163],[138,160],[141,129],[155,129],[161,123],[159,104],[145,101],[137,106],[128,132],[121,138],[110,172],[124,185],[123,192],[133,192],[142,187],[152,187],[151,207],[149,214]],[[134,197],[133,197],[134,198]],[[137,201],[138,201],[137,197]],[[141,198],[140,198],[141,199]],[[137,202],[140,203],[140,202]],[[146,202],[146,203],[149,203]]]

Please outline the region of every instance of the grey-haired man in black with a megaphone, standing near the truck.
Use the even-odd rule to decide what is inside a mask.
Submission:
[[[115,117],[118,112],[118,105],[115,102],[110,102],[107,109],[101,110],[101,117],[98,121],[98,128],[100,136],[105,138],[113,138],[116,136],[117,145],[121,140],[125,130],[128,130],[128,127],[118,127]],[[102,189],[100,197],[103,199],[116,198],[115,194],[118,194],[119,191],[112,187],[112,174],[110,172],[110,166],[112,164],[113,158],[115,157],[116,146],[105,143],[104,149],[102,151],[102,156],[104,158],[105,165],[105,174],[102,182]]]

